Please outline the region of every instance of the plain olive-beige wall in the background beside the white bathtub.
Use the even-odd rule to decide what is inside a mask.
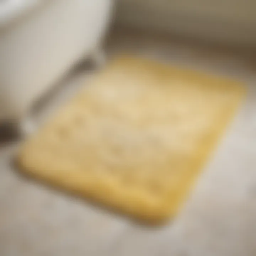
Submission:
[[[204,42],[254,47],[255,5],[250,0],[120,0],[115,23]]]

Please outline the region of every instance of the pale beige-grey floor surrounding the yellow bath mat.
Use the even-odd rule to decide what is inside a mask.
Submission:
[[[256,73],[241,56],[160,35],[115,32],[108,55],[146,55],[244,81],[248,96],[180,215],[148,228],[33,180],[15,170],[19,141],[0,145],[1,256],[256,255]],[[36,114],[41,124],[90,79],[73,71]]]

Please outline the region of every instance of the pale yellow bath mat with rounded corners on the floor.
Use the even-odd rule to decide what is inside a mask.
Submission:
[[[244,95],[238,82],[119,57],[29,139],[23,171],[136,218],[184,201]]]

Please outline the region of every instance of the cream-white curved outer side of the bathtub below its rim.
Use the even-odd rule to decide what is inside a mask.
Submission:
[[[0,120],[22,118],[71,66],[99,47],[110,10],[111,0],[44,0],[0,30]]]

